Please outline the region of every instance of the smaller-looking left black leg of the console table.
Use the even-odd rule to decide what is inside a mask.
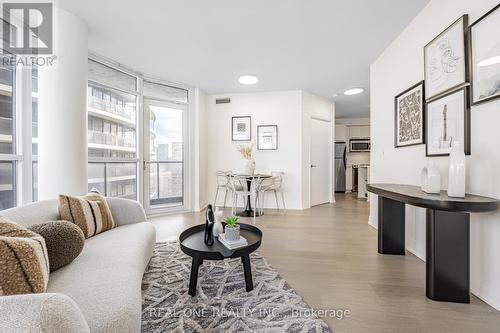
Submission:
[[[405,254],[405,204],[378,197],[378,253]]]

